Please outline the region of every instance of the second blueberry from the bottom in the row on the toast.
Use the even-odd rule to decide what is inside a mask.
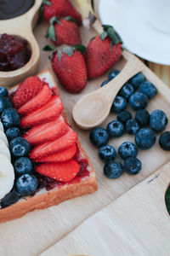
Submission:
[[[14,172],[17,175],[31,173],[32,170],[33,170],[33,165],[29,158],[24,156],[14,161]]]

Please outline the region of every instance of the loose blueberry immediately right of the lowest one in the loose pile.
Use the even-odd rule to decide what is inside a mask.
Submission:
[[[129,157],[124,161],[123,171],[128,174],[138,174],[142,169],[142,163],[138,158]]]

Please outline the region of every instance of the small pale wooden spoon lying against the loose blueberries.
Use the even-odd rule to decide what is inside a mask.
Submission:
[[[128,55],[128,53],[123,55],[126,54]],[[109,115],[114,98],[122,85],[143,68],[144,64],[132,55],[115,79],[98,90],[82,96],[72,110],[72,117],[77,125],[84,130],[100,125]]]

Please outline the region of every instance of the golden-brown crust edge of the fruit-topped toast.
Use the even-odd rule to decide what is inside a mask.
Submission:
[[[50,73],[54,81],[57,93],[60,97],[58,84],[56,84],[54,76],[50,70],[43,70],[41,73],[38,73],[37,75],[41,75],[42,73],[47,72]],[[15,85],[14,87],[17,86],[18,85]],[[14,87],[12,89],[14,89]],[[62,115],[65,121],[70,125],[65,113],[65,109],[63,110]],[[84,156],[88,159],[88,163],[91,168],[90,177],[83,179],[79,183],[65,184],[64,186],[59,187],[59,189],[51,189],[47,191],[47,193],[32,196],[24,201],[18,201],[9,207],[0,209],[0,223],[4,223],[14,218],[21,218],[27,212],[32,212],[34,210],[59,205],[60,202],[67,201],[77,196],[94,193],[98,189],[96,175],[94,172],[94,166],[92,165],[91,160],[88,158],[88,154],[82,148],[82,144],[79,142],[79,140],[77,140],[77,144],[82,154],[84,154]]]

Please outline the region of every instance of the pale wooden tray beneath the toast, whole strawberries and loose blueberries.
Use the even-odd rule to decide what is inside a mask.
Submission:
[[[37,24],[35,29],[35,35],[38,44],[40,45],[40,49],[49,42],[47,42],[43,36],[47,26],[48,24],[45,21],[41,21]],[[81,33],[82,43],[85,45],[87,45],[89,39],[95,35],[94,30],[88,31],[85,28],[81,28]],[[125,60],[122,59],[114,68],[122,69],[124,64]],[[51,69],[48,61],[48,53],[41,51],[41,63],[38,72],[47,68]],[[77,99],[82,95],[99,88],[102,81],[106,79],[106,75],[107,74],[98,79],[89,81],[85,90],[79,95],[71,95],[59,86],[68,118],[70,119],[73,128],[77,131],[82,146],[85,148],[89,158],[94,164],[99,190],[92,195],[65,201],[59,206],[50,207],[42,211],[30,212],[23,218],[0,224],[0,255],[34,256],[38,253],[42,253],[44,250],[48,249],[48,247],[51,247],[54,243],[68,235],[72,230],[76,229],[78,225],[92,216],[95,212],[98,212],[111,204],[111,202],[115,201],[120,195],[123,195],[129,189],[133,188],[133,186],[144,181],[144,179],[149,177],[151,173],[156,172],[158,168],[170,160],[169,153],[161,150],[158,143],[156,143],[156,146],[149,151],[139,151],[139,159],[142,160],[143,169],[137,176],[132,177],[123,174],[122,177],[116,180],[111,180],[104,176],[104,164],[98,158],[98,150],[89,143],[89,131],[82,131],[73,124],[71,119],[71,109],[74,103],[77,102]],[[149,111],[151,112],[154,109],[160,108],[167,113],[167,117],[170,119],[170,90],[168,90],[161,80],[157,79],[153,73],[150,73],[149,69],[144,71],[144,75],[147,79],[150,79],[151,82],[156,84],[159,90],[162,88],[162,94],[158,94],[154,100],[150,101],[148,106]],[[102,126],[105,127],[105,125],[113,119],[116,119],[116,115],[110,114]],[[167,130],[170,130],[170,123],[167,125]],[[117,149],[118,146],[125,141],[133,142],[134,137],[125,135],[119,139],[112,139],[110,143]],[[167,176],[167,180],[168,179],[169,177]],[[141,190],[141,193],[144,193],[144,191]],[[162,204],[163,203],[164,202],[162,201]],[[150,207],[150,203],[148,204],[148,207]],[[165,206],[163,205],[162,207]],[[152,217],[150,216],[150,221],[151,219]],[[122,222],[122,229],[123,225],[124,223]],[[99,236],[102,232],[107,232],[107,230],[105,230],[102,222],[100,222]],[[123,234],[120,234],[120,236],[123,236]],[[105,249],[105,243],[103,245],[103,243],[100,242],[99,246],[103,247],[103,250]],[[145,250],[147,250],[147,248],[145,248]],[[62,256],[62,254],[57,252],[56,255]]]

